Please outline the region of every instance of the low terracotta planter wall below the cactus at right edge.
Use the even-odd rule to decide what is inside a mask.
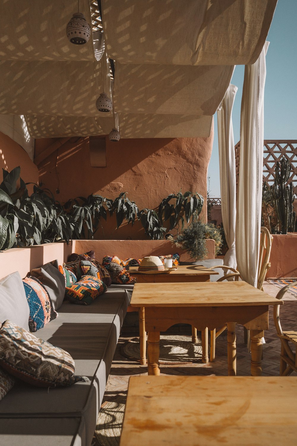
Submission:
[[[297,233],[274,234],[268,277],[297,277]]]

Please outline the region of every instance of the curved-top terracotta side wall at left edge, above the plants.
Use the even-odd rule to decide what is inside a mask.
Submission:
[[[38,168],[28,153],[9,136],[0,132],[0,169],[10,172],[17,166],[20,166],[20,176],[25,183],[38,183]],[[0,182],[2,182],[2,170]],[[28,190],[32,193],[33,186],[28,186]]]

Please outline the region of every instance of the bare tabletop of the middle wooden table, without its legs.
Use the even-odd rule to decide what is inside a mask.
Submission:
[[[282,305],[275,297],[238,282],[136,283],[130,306],[255,306]]]

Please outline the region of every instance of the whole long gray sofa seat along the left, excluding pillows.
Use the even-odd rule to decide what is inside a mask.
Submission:
[[[75,374],[67,388],[17,382],[0,402],[1,446],[90,446],[133,285],[111,285],[92,305],[64,301],[37,337],[68,351]]]

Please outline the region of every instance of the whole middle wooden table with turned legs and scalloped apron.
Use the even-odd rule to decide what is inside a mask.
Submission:
[[[195,283],[137,283],[130,306],[145,309],[148,374],[159,375],[160,331],[183,322],[198,330],[227,323],[228,375],[236,375],[236,334],[239,323],[251,330],[251,375],[262,372],[264,330],[268,330],[268,307],[282,301],[244,281]],[[203,347],[203,344],[202,344]],[[205,347],[204,347],[205,348]]]

